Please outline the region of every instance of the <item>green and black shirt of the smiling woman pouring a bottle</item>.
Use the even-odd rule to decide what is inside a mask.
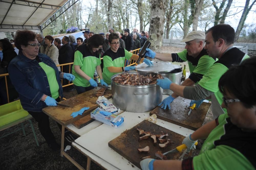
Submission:
[[[123,67],[124,66],[124,61],[129,60],[132,57],[132,53],[129,51],[119,48],[117,52],[113,52],[111,49],[108,49],[104,54],[103,54],[103,80],[107,84],[111,84],[111,77],[115,74],[118,73],[111,73],[108,70],[108,67]]]

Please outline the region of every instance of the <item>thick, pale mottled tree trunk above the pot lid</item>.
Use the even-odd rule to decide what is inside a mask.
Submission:
[[[151,17],[148,40],[151,42],[151,49],[160,52],[163,43],[163,28],[165,23],[165,1],[151,0]]]

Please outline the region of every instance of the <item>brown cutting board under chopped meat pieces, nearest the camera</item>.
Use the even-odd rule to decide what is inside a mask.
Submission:
[[[153,144],[153,140],[151,138],[138,141],[140,135],[136,130],[137,128],[143,129],[144,131],[148,131],[154,134],[159,134],[161,132],[168,133],[168,139],[170,139],[173,143],[167,146],[165,149],[160,149],[158,146],[159,141],[157,140],[157,144]],[[163,138],[163,139],[166,139]],[[108,145],[114,151],[125,157],[128,161],[134,164],[137,167],[140,167],[140,161],[142,157],[151,156],[151,158],[155,158],[156,151],[161,151],[165,153],[169,150],[176,148],[177,146],[182,144],[182,141],[185,137],[178,133],[175,133],[171,130],[163,128],[155,123],[144,120],[136,126],[132,127],[129,130],[124,131],[118,137],[111,140]],[[150,153],[139,153],[138,148],[144,148],[146,146],[150,147]],[[166,155],[168,159],[178,159],[182,153],[172,153]]]

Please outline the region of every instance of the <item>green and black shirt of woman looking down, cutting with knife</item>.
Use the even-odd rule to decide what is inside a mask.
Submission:
[[[86,44],[82,44],[77,48],[74,55],[74,64],[72,67],[72,74],[76,77],[73,80],[74,85],[81,87],[91,86],[90,82],[81,77],[76,71],[74,66],[79,65],[80,69],[93,79],[96,66],[101,64],[100,54],[92,56]]]

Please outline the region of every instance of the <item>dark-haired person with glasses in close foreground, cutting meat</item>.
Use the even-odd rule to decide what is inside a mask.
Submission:
[[[157,169],[256,169],[256,58],[230,68],[219,80],[222,107],[227,109],[215,120],[186,137],[187,150],[198,139],[206,139],[198,156],[179,160],[140,162],[143,170]],[[234,76],[235,75],[235,76]],[[246,75],[246,76],[244,76]]]

